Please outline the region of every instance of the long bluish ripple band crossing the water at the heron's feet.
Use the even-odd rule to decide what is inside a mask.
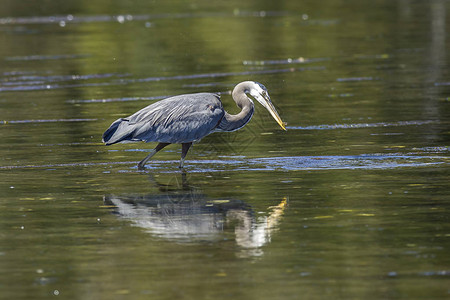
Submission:
[[[262,158],[233,158],[213,160],[190,160],[187,169],[192,173],[222,171],[308,171],[308,170],[388,170],[405,167],[429,167],[449,164],[445,156],[423,156],[405,154],[361,154],[331,156],[285,156]],[[136,172],[137,161],[61,163],[46,165],[0,166],[0,169],[65,168],[65,167],[105,167],[131,165],[120,172]],[[147,164],[148,171],[163,173],[179,172],[178,160],[153,160]],[[170,166],[173,166],[171,168]],[[142,171],[139,171],[142,172]]]

